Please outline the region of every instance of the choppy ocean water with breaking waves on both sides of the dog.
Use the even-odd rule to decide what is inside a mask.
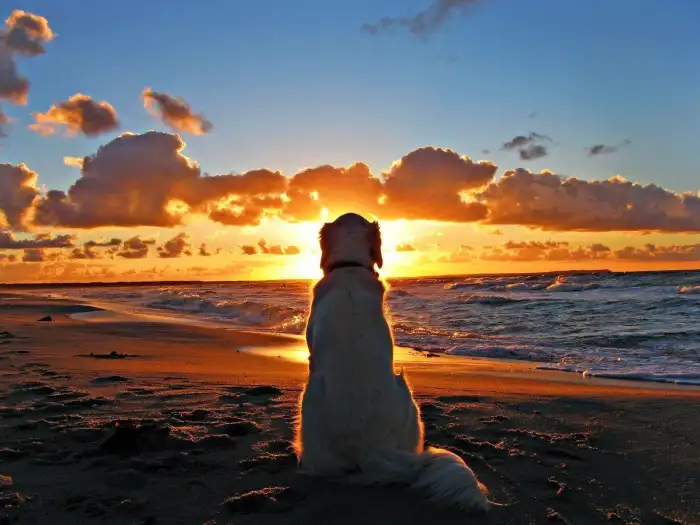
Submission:
[[[396,343],[589,376],[700,385],[700,271],[391,279]],[[86,286],[52,296],[301,334],[309,281]]]

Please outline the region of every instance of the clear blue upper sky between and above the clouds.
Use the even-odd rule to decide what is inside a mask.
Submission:
[[[358,160],[378,172],[436,145],[501,170],[698,190],[700,3],[477,0],[425,38],[360,30],[430,3],[16,2],[9,7],[45,16],[57,37],[45,55],[19,61],[29,104],[4,104],[16,120],[0,161],[25,162],[40,183],[65,189],[78,172],[62,158],[91,154],[116,133],[45,138],[26,129],[30,112],[82,92],[110,102],[122,131],[165,130],[140,100],[152,87],[212,121],[210,134],[185,137],[186,153],[212,174]],[[531,131],[552,137],[549,156],[527,162],[499,150]],[[584,151],[623,140],[630,145],[614,154]]]

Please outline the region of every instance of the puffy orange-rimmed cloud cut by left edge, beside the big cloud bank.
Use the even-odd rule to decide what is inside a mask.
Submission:
[[[0,226],[25,230],[39,190],[38,175],[25,164],[0,164]]]

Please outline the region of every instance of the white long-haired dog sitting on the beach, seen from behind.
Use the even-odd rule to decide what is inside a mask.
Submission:
[[[309,379],[300,398],[296,449],[312,476],[358,484],[406,483],[463,511],[489,501],[466,463],[423,449],[423,423],[411,389],[396,375],[384,316],[379,224],[354,213],[320,232],[324,277],[315,285],[306,328]]]

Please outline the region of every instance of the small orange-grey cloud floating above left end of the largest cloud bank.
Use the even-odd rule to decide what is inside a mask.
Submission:
[[[42,135],[52,135],[57,126],[68,128],[70,135],[82,133],[86,137],[119,128],[117,112],[109,102],[98,102],[82,93],[51,106],[46,113],[32,113],[32,116],[36,124],[31,124],[29,128]]]

